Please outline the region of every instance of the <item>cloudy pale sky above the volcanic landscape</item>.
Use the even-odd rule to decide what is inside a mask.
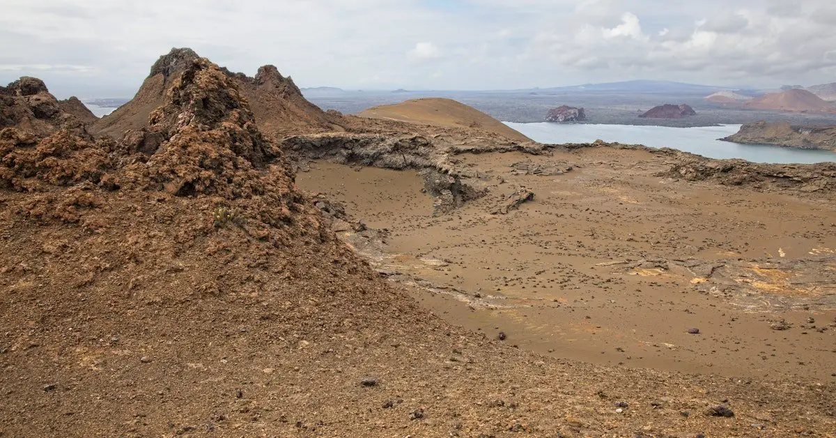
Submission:
[[[816,85],[836,82],[833,28],[828,0],[3,0],[0,84],[130,97],[190,47],[346,90]]]

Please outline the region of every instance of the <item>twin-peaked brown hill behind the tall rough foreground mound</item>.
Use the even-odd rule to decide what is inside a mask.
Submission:
[[[171,49],[151,67],[148,78],[132,100],[94,125],[96,135],[121,138],[125,131],[147,126],[151,111],[165,102],[168,88],[198,58],[191,49]],[[258,69],[255,78],[221,70],[236,82],[238,92],[248,101],[265,134],[281,137],[339,129],[332,123],[339,121],[339,117],[329,116],[305,100],[293,80],[284,78],[273,65]]]

